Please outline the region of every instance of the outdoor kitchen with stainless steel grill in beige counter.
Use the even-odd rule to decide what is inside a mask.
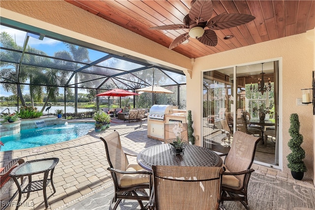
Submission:
[[[172,105],[153,105],[148,113],[148,137],[164,141],[164,124],[180,121],[186,123],[186,110]]]

